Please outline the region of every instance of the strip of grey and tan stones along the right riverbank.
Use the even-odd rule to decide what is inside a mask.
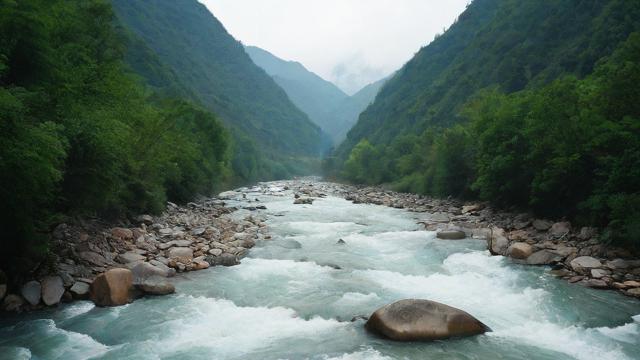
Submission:
[[[598,231],[574,227],[565,220],[538,219],[527,213],[500,211],[487,203],[463,203],[398,193],[382,187],[356,187],[316,181],[293,181],[298,203],[332,194],[352,201],[407,209],[422,214],[426,230],[450,241],[476,238],[487,241],[493,255],[508,256],[526,265],[546,265],[553,275],[583,286],[616,289],[640,298],[640,256],[627,249],[606,246]]]

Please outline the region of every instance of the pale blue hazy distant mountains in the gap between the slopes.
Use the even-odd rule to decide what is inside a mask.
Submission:
[[[344,139],[360,112],[373,101],[384,83],[384,80],[377,81],[349,96],[299,62],[280,59],[255,46],[246,46],[245,50],[253,62],[285,90],[291,101],[331,136],[335,144]]]

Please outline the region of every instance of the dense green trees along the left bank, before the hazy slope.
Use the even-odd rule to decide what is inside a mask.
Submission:
[[[230,136],[150,98],[100,0],[0,0],[0,263],[31,269],[62,216],[158,212],[220,188]]]

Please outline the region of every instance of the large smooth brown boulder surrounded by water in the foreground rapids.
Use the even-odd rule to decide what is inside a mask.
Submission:
[[[398,341],[431,341],[491,331],[462,310],[417,299],[400,300],[376,310],[365,327]]]

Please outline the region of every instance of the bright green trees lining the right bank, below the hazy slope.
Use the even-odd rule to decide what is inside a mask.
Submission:
[[[632,33],[583,79],[511,94],[487,88],[464,107],[463,124],[388,146],[363,140],[344,176],[571,217],[605,227],[604,240],[640,247],[638,83],[640,33]]]

